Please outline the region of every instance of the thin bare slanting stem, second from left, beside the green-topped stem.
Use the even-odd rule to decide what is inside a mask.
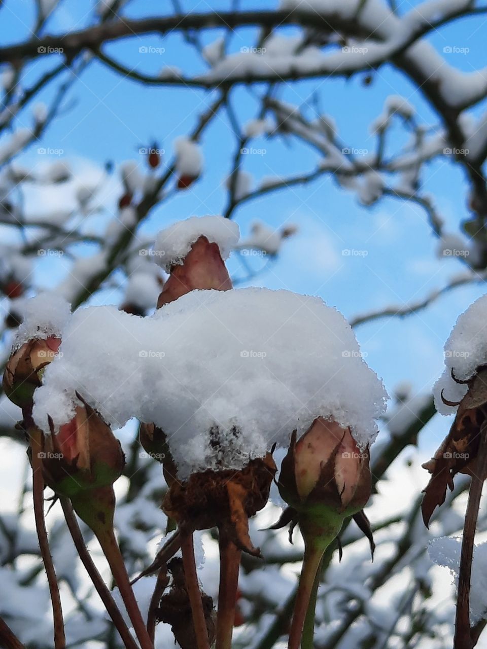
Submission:
[[[79,528],[78,521],[76,519],[75,513],[73,511],[73,506],[71,501],[64,496],[60,498],[62,511],[64,511],[64,518],[66,519],[66,524],[68,525],[69,532],[73,538],[73,542],[79,554],[79,557],[82,561],[82,564],[86,568],[86,572],[90,576],[90,579],[93,582],[93,585],[100,596],[101,601],[103,602],[106,612],[112,618],[112,621],[116,627],[116,630],[120,634],[123,644],[127,649],[138,649],[138,645],[134,638],[132,637],[127,624],[125,624],[123,617],[115,604],[114,598],[112,597],[108,587],[106,587],[105,582],[101,578],[101,574],[98,572],[97,567],[93,563],[93,559],[90,556],[90,553],[86,549],[84,544],[84,539],[82,537],[81,530]]]

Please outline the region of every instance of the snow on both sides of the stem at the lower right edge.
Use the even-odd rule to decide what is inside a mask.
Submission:
[[[453,574],[455,587],[458,587],[460,552],[462,541],[456,537],[433,539],[428,545],[428,554],[433,563],[448,568]],[[484,617],[487,611],[487,543],[479,543],[473,548],[473,561],[470,580],[470,623],[473,626]]]

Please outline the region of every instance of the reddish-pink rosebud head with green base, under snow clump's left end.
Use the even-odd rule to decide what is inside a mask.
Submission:
[[[112,485],[121,476],[125,456],[118,439],[88,404],[57,433],[44,438],[45,482],[56,493],[75,498],[88,489]],[[73,501],[73,504],[74,501]]]

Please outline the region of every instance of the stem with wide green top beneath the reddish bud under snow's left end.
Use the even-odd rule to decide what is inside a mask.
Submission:
[[[154,649],[115,538],[113,528],[115,494],[113,487],[99,487],[98,489],[92,489],[88,493],[83,492],[77,495],[76,498],[71,498],[71,502],[76,513],[93,530],[101,545],[141,648]]]

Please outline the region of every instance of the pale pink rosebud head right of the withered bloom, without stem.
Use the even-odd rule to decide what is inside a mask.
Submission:
[[[282,461],[279,491],[297,511],[301,528],[340,523],[360,511],[371,493],[368,449],[360,451],[349,428],[315,419]]]

